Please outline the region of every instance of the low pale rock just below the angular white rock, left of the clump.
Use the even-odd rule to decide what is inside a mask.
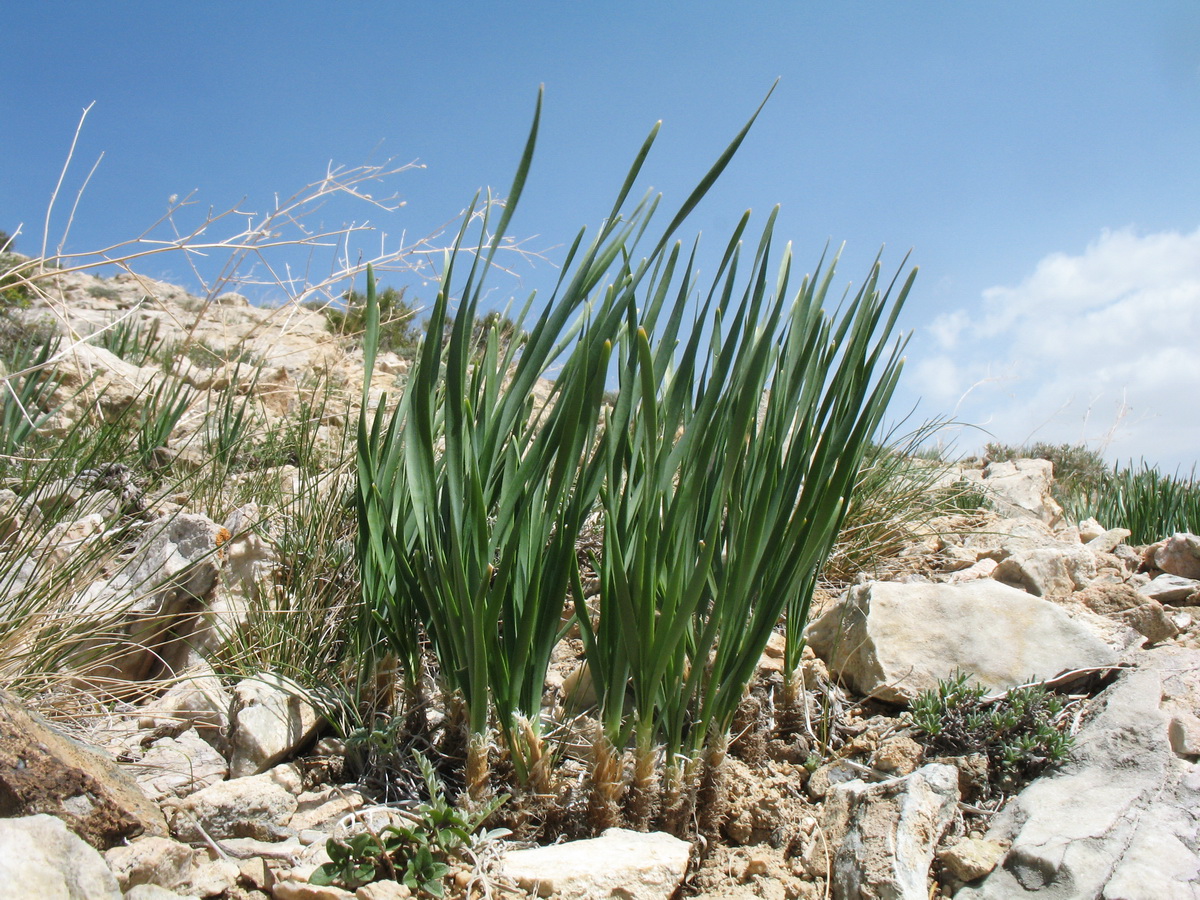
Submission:
[[[295,811],[296,798],[265,773],[197,791],[176,808],[172,830],[184,841],[203,840],[200,829],[216,840],[286,838],[287,824]]]

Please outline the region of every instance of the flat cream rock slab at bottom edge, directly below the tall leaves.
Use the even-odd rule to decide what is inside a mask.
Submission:
[[[691,845],[660,832],[610,828],[601,836],[515,850],[504,874],[536,896],[667,900],[683,883]]]

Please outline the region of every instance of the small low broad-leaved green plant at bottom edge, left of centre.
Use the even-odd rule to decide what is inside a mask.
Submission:
[[[398,881],[418,895],[440,898],[450,863],[466,859],[480,842],[508,834],[504,829],[476,833],[479,826],[508,799],[500,796],[474,812],[451,805],[432,763],[413,754],[430,799],[409,815],[407,826],[386,826],[378,834],[362,832],[325,845],[331,862],[308,878],[312,884],[341,884],[354,890],[380,878]]]

